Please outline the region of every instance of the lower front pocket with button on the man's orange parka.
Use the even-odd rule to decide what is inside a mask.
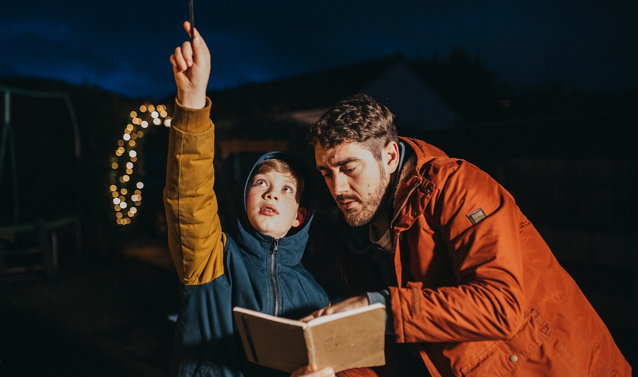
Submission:
[[[461,368],[463,376],[504,376],[530,359],[553,331],[536,309],[525,316],[521,329],[507,341],[496,341],[470,364]]]

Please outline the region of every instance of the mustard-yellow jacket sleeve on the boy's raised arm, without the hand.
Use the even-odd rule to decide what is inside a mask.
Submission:
[[[201,110],[175,99],[168,141],[164,205],[168,246],[182,283],[208,283],[224,273],[225,235],[213,191],[214,125],[211,101]]]

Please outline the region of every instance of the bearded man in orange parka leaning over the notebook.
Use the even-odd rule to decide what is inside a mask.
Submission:
[[[630,376],[512,196],[470,163],[397,138],[392,118],[359,94],[311,127],[357,295],[309,318],[383,302],[396,375]]]

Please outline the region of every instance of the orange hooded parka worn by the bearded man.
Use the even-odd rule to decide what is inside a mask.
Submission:
[[[472,164],[401,138],[390,228],[397,343],[433,376],[630,376],[607,327],[514,198]],[[413,157],[414,159],[414,157]]]

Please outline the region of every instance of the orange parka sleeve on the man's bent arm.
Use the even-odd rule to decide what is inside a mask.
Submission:
[[[413,226],[440,234],[436,242],[447,248],[456,286],[390,287],[397,342],[512,338],[523,320],[522,215],[510,194],[477,167],[458,160],[441,170],[436,175],[445,180],[434,181],[438,188]],[[419,237],[438,238],[428,232]],[[418,239],[408,245],[420,252]]]

